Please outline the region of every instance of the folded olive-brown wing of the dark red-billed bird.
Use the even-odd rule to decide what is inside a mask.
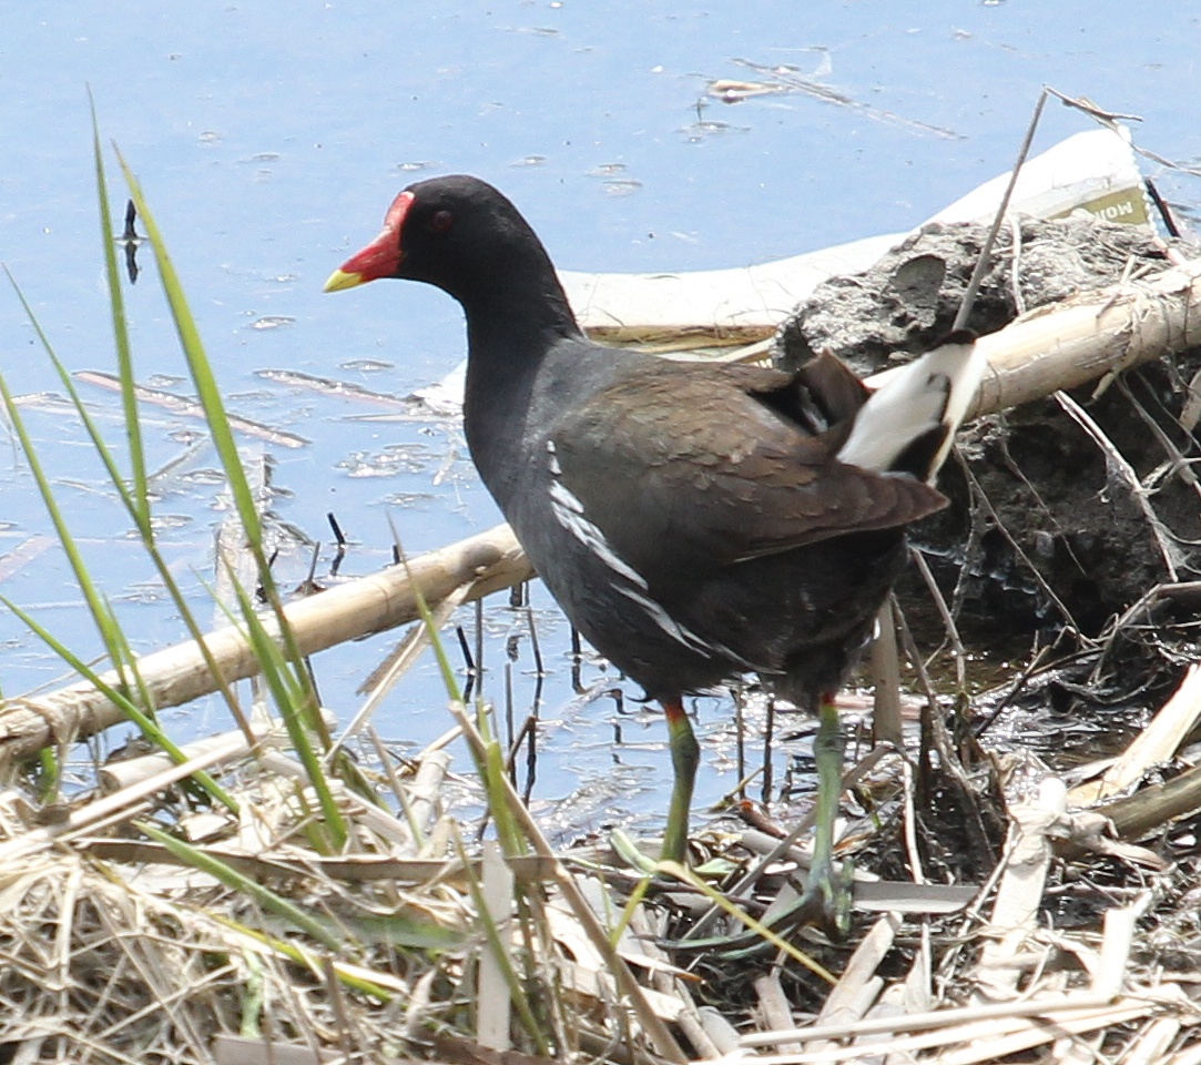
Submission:
[[[729,565],[945,506],[912,477],[837,460],[864,397],[837,367],[809,377],[680,363],[643,370],[555,426],[558,477],[585,516],[604,516],[607,541],[640,572],[689,557]]]

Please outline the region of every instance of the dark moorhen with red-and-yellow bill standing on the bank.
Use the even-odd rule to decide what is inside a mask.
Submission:
[[[811,883],[829,910],[833,696],[904,563],[906,526],[946,502],[926,482],[975,394],[972,338],[876,393],[832,356],[785,374],[594,344],[533,230],[471,177],[401,192],[325,291],[377,278],[462,304],[464,418],[484,483],[567,617],[663,704],[664,858],[683,858],[699,757],[685,694],[753,672],[818,712]]]

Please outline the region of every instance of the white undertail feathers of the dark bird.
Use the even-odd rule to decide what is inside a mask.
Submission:
[[[987,361],[979,347],[944,344],[894,370],[860,407],[838,459],[865,470],[890,470],[910,444],[943,424],[948,432],[930,466],[932,481],[984,376]]]

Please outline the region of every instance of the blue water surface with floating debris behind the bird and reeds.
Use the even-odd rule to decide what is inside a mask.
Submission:
[[[113,369],[90,85],[104,137],[139,175],[166,233],[231,409],[311,441],[268,447],[287,493],[275,511],[323,541],[324,514],[335,511],[355,541],[346,570],[368,572],[387,558],[389,513],[410,551],[497,520],[456,427],[368,420],[383,411],[258,374],[294,369],[406,394],[459,361],[460,315],[441,293],[389,282],[319,291],[375,236],[407,182],[448,171],[494,182],[566,268],[761,262],[904,230],[1006,169],[1044,83],[1142,115],[1141,143],[1195,166],[1199,19],[1185,4],[1152,2],[1135,16],[1115,2],[1014,0],[10,5],[0,34],[0,258],[70,368]],[[725,105],[706,95],[715,78],[764,79],[747,64],[787,65],[844,102],[794,93]],[[1082,129],[1078,114],[1052,106],[1038,143]],[[112,155],[109,167],[120,214]],[[1197,202],[1195,180],[1154,163],[1148,171],[1169,198]],[[151,257],[142,262],[147,272],[126,288],[141,374],[187,392]],[[0,296],[0,368],[18,394],[59,391],[11,294]],[[119,442],[114,397],[84,393]],[[175,638],[179,625],[74,418],[53,406],[29,412],[136,644]],[[148,420],[151,464],[185,453],[193,424],[160,410]],[[186,463],[161,501],[173,519],[172,555],[198,601],[221,517],[213,465],[207,452]],[[0,477],[2,559],[48,523],[11,447]],[[303,570],[303,555],[287,554],[285,570]],[[0,593],[95,652],[55,551],[11,569]],[[536,799],[574,796],[579,804],[560,813],[581,825],[657,814],[662,726],[653,714],[626,721],[615,767],[611,706],[562,712],[572,697],[564,626],[544,597],[536,602],[552,667]],[[489,618],[500,639],[520,623],[501,603]],[[14,619],[0,618],[0,639],[5,694],[59,673]],[[354,684],[388,644],[376,638],[318,659],[325,700],[343,720]],[[498,665],[500,644],[490,645]],[[516,670],[520,709],[532,684],[527,655]],[[420,744],[446,727],[441,703],[424,666],[377,725]],[[227,724],[209,704],[181,716],[197,731]],[[707,772],[707,799],[731,784],[728,706],[707,704],[703,727],[707,763],[725,771]]]

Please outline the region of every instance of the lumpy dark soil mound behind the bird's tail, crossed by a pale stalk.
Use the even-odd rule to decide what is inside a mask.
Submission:
[[[831,350],[866,375],[937,345],[984,236],[982,226],[930,226],[871,270],[831,279],[782,327],[777,363]],[[1089,219],[1022,222],[1016,268],[1010,248],[1003,231],[970,321],[976,333],[1002,328],[1021,309],[1166,266],[1146,232]],[[1187,400],[1199,367],[1201,352],[1188,352],[1071,393],[1093,433],[1056,397],[961,433],[961,460],[939,482],[951,505],[912,540],[966,642],[1029,645],[1066,632],[1074,648],[1098,649],[1115,619],[1157,585],[1197,578],[1201,490],[1191,464],[1201,448]],[[902,601],[918,589],[912,573],[907,581]],[[1160,601],[1152,631],[1119,641],[1123,655],[1142,661],[1128,691],[1146,685],[1147,667],[1175,665],[1184,645],[1191,653],[1191,609],[1172,602]],[[1088,668],[1095,683],[1097,661]]]

